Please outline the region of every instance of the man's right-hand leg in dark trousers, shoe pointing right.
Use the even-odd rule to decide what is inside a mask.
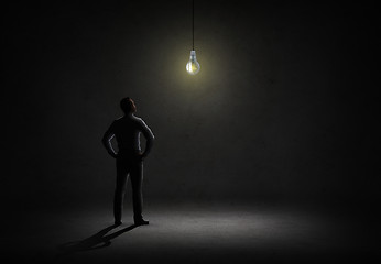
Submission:
[[[148,224],[143,221],[143,163],[137,162],[131,167],[131,185],[132,185],[132,202],[133,202],[133,219],[137,224]]]

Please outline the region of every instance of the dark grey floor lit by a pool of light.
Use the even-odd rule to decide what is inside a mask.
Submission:
[[[319,207],[148,205],[150,226],[113,228],[108,206],[34,211],[4,227],[8,262],[366,263],[380,256],[377,222]],[[4,256],[4,255],[3,255]]]

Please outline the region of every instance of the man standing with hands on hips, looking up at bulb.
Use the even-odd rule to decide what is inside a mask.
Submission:
[[[123,198],[128,176],[132,185],[133,220],[137,226],[149,224],[142,216],[143,206],[143,160],[149,155],[154,135],[141,118],[134,116],[137,107],[129,97],[120,101],[124,116],[115,120],[106,131],[102,143],[108,153],[117,160],[117,184],[113,197],[115,224],[122,223]],[[145,150],[141,151],[140,134],[146,139]],[[111,140],[116,138],[118,153],[113,150]]]

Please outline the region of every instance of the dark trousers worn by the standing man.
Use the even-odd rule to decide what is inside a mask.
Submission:
[[[129,176],[132,185],[133,218],[135,221],[143,218],[143,162],[139,160],[138,155],[119,155],[117,157],[117,186],[113,197],[113,217],[116,221],[122,219],[123,198]]]

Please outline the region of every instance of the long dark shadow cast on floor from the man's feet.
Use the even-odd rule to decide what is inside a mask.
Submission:
[[[112,229],[117,228],[118,226],[112,224],[109,226],[100,231],[98,231],[96,234],[80,240],[80,241],[73,241],[73,242],[67,242],[62,245],[57,246],[58,254],[64,255],[64,254],[69,254],[78,251],[89,251],[89,250],[98,250],[105,246],[109,246],[111,244],[111,240],[121,235],[122,233],[129,232],[132,229],[139,227],[137,224],[132,224],[130,227],[127,227],[124,229],[121,229],[117,232],[107,234],[110,232]]]

